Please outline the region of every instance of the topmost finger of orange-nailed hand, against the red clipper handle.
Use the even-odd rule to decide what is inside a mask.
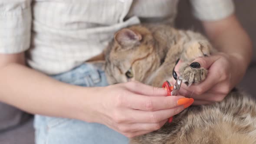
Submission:
[[[166,90],[164,88],[152,87],[150,85],[145,85],[140,82],[128,82],[128,90],[139,95],[147,96],[167,96]]]

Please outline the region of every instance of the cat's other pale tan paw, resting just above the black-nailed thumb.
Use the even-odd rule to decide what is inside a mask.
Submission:
[[[199,57],[210,56],[212,46],[207,40],[191,41],[184,45],[184,51],[181,54],[183,61],[193,61]]]

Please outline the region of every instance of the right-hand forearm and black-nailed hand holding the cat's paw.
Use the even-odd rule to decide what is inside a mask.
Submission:
[[[194,60],[208,69],[203,82],[190,87],[181,85],[180,94],[194,98],[194,105],[222,101],[243,78],[253,53],[251,40],[235,14],[217,21],[202,21],[202,24],[219,52]],[[178,65],[175,70],[178,70]]]

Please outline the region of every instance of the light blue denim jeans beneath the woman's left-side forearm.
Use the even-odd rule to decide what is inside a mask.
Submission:
[[[105,73],[92,64],[83,64],[54,79],[86,87],[106,86]],[[128,144],[128,138],[103,124],[68,118],[36,115],[36,144]]]

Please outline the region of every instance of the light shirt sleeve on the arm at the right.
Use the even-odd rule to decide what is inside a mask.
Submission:
[[[232,0],[190,0],[194,16],[202,21],[216,21],[235,11]]]

